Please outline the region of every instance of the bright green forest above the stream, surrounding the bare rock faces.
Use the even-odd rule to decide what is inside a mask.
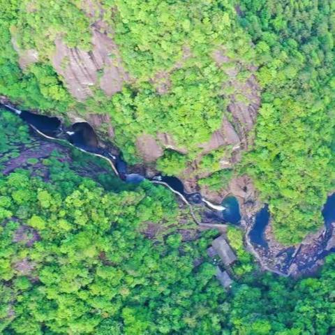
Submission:
[[[320,208],[334,190],[332,1],[10,0],[2,5],[0,93],[53,114],[107,114],[114,141],[130,162],[139,160],[138,136],[169,133],[187,154],[176,160],[167,152],[158,161],[168,174],[182,174],[198,144],[209,140],[224,115],[231,117],[229,97],[239,92],[231,81],[224,84],[229,76],[213,52],[223,52],[225,68],[237,70],[240,82],[257,66],[262,93],[255,147],[237,172],[253,177],[269,203],[279,241],[296,243],[320,227]],[[110,27],[131,80],[112,98],[95,87],[82,103],[54,69],[54,40],[92,50],[90,24],[96,20]],[[22,71],[18,54],[27,50],[36,50],[38,61]],[[165,94],[157,91],[162,80]],[[232,175],[202,166],[200,185],[211,189],[220,190]]]

